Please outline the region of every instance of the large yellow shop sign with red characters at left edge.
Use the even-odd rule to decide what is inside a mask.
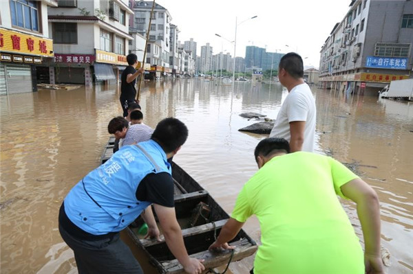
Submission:
[[[0,51],[52,57],[53,41],[0,27]]]

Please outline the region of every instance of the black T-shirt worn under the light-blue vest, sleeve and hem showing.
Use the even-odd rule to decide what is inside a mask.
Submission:
[[[174,207],[173,200],[173,179],[167,172],[160,172],[158,174],[150,173],[145,176],[136,190],[136,198],[139,201],[147,201],[149,203],[156,203],[164,207]],[[65,205],[62,203],[59,211],[59,225],[65,229],[72,236],[81,238],[83,240],[98,240],[113,236],[116,232],[107,233],[104,235],[94,235],[83,231],[77,227],[65,213]]]

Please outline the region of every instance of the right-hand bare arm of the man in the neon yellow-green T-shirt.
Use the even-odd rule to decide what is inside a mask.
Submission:
[[[383,273],[380,253],[380,206],[377,193],[359,178],[341,185],[340,188],[344,196],[357,204],[357,215],[365,242],[367,273]]]

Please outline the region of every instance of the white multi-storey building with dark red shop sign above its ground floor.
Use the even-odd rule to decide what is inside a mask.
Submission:
[[[132,40],[127,1],[59,0],[48,12],[55,49],[50,83],[117,83]]]

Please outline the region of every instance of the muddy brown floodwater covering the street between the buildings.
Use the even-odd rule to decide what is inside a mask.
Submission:
[[[312,87],[317,100],[317,150],[358,167],[379,194],[388,273],[413,273],[413,104],[345,96]],[[145,124],[178,117],[189,139],[174,160],[231,212],[242,185],[257,170],[253,149],[262,135],[237,131],[254,121],[245,111],[275,118],[287,91],[276,83],[219,86],[203,79],[145,82]],[[96,168],[107,123],[122,113],[116,87],[43,90],[0,97],[1,273],[76,273],[57,214],[70,188]],[[292,194],[293,195],[293,194]],[[343,203],[361,235],[352,203]],[[259,240],[256,218],[244,226]],[[232,263],[247,273],[253,258]]]

